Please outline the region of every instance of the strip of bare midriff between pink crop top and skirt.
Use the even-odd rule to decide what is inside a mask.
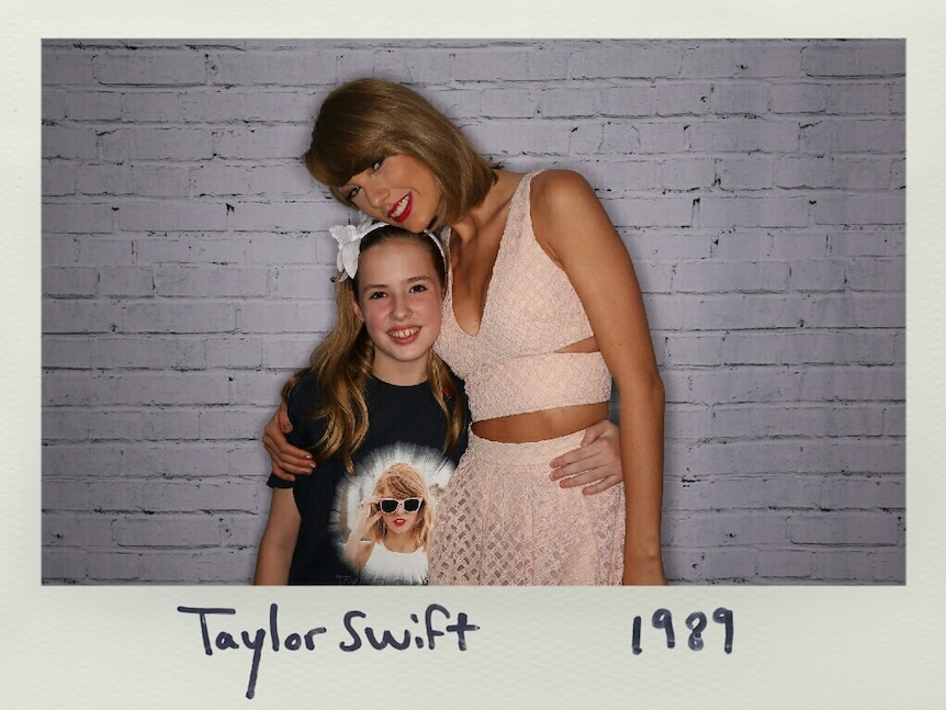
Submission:
[[[526,443],[584,431],[607,418],[608,403],[600,402],[484,419],[473,425],[473,433],[491,441]]]

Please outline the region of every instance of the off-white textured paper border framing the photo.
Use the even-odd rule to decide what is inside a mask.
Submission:
[[[291,3],[292,4],[292,3]],[[182,623],[173,608],[179,604],[239,607],[246,626],[261,624],[268,604],[280,601],[283,609],[306,617],[306,609],[319,607],[326,613],[358,606],[363,598],[350,590],[294,597],[294,590],[272,594],[250,588],[41,586],[38,471],[40,437],[40,37],[102,36],[136,34],[147,36],[214,36],[269,34],[289,36],[334,31],[342,35],[399,34],[417,36],[424,27],[446,36],[495,36],[500,32],[552,35],[560,33],[626,34],[635,36],[908,36],[910,63],[911,240],[908,264],[909,323],[911,328],[908,398],[910,399],[911,544],[908,552],[909,583],[905,587],[844,589],[819,588],[708,588],[676,587],[664,590],[453,590],[439,596],[477,611],[481,622],[497,622],[498,644],[489,646],[492,662],[481,655],[477,673],[457,660],[437,663],[363,657],[358,672],[344,670],[338,660],[317,667],[305,666],[314,683],[327,684],[329,701],[350,702],[358,695],[365,702],[390,700],[383,686],[365,684],[385,672],[409,673],[430,678],[417,686],[415,705],[428,707],[450,702],[457,707],[481,707],[507,699],[507,707],[574,705],[576,700],[600,707],[627,707],[629,701],[671,705],[700,702],[707,707],[731,707],[734,699],[765,707],[889,707],[912,703],[936,707],[942,696],[942,674],[937,674],[938,639],[943,626],[934,599],[938,600],[943,579],[938,541],[943,525],[938,510],[944,503],[936,441],[942,417],[936,403],[942,394],[937,365],[942,357],[938,329],[942,298],[936,288],[943,266],[942,247],[935,235],[937,156],[942,140],[934,131],[942,113],[938,78],[942,74],[937,37],[944,29],[942,13],[925,3],[823,3],[796,2],[754,11],[744,3],[668,2],[644,9],[632,4],[609,8],[610,3],[583,3],[581,9],[552,5],[553,12],[536,14],[526,4],[475,9],[459,7],[449,18],[424,3],[401,3],[396,9],[364,5],[301,12],[268,3],[266,8],[226,8],[205,3],[200,8],[171,3],[166,13],[145,16],[129,5],[85,3],[81,8],[53,7],[35,16],[35,8],[18,9],[3,45],[8,71],[3,74],[7,127],[3,148],[14,170],[4,172],[3,204],[13,215],[3,241],[4,277],[0,282],[4,308],[3,391],[8,402],[4,417],[10,432],[12,458],[3,466],[9,489],[5,495],[3,530],[3,599],[10,611],[8,641],[2,651],[9,670],[8,694],[21,705],[46,707],[124,707],[147,700],[158,707],[206,707],[246,703],[241,698],[247,664],[243,656],[211,664],[199,647],[196,632]],[[50,7],[47,3],[47,7]],[[543,5],[543,10],[549,5]],[[238,10],[238,11],[237,11]],[[395,12],[396,10],[396,12]],[[31,14],[32,12],[32,14]],[[188,18],[190,31],[180,21]],[[497,18],[503,22],[497,24]],[[537,21],[541,16],[542,21]],[[289,18],[289,20],[286,20]],[[146,22],[148,24],[143,25]],[[286,26],[290,24],[291,26]],[[359,27],[358,32],[352,30]],[[320,29],[317,30],[317,29]],[[36,235],[36,244],[16,238]],[[925,442],[925,443],[923,443]],[[33,476],[24,471],[37,472]],[[915,472],[915,473],[914,473]],[[311,590],[301,590],[309,591]],[[406,591],[406,590],[405,590]],[[475,593],[475,594],[471,594]],[[613,597],[611,597],[613,593]],[[509,595],[516,595],[510,599]],[[554,598],[550,598],[550,595]],[[430,599],[375,597],[370,610],[382,602],[394,605],[392,617],[402,617],[413,606]],[[469,602],[472,600],[473,606]],[[518,602],[514,606],[511,602]],[[350,602],[350,606],[349,606]],[[416,605],[415,605],[416,602]],[[664,654],[644,667],[632,663],[626,632],[633,613],[649,613],[656,606],[675,611],[710,608],[728,604],[741,612],[741,629],[750,639],[745,653],[720,658],[703,654]],[[386,604],[384,605],[386,606]],[[541,618],[575,618],[565,638],[532,635]],[[549,623],[547,628],[552,628]],[[616,630],[617,629],[617,630]],[[549,636],[553,634],[549,632]],[[266,660],[264,660],[266,663]],[[514,665],[515,664],[515,665]],[[356,665],[348,664],[348,667]],[[255,707],[285,707],[299,701],[300,676],[279,675],[272,664],[266,695],[260,690]],[[510,676],[509,667],[516,673]],[[55,679],[50,680],[50,668]],[[576,668],[575,670],[573,670]],[[266,670],[263,672],[266,673]],[[326,678],[331,674],[331,680]],[[306,676],[306,681],[309,676]],[[157,681],[157,683],[156,683]],[[347,685],[346,685],[347,684]],[[319,688],[325,689],[323,687]],[[352,690],[357,689],[357,690]],[[567,692],[565,692],[567,689]],[[227,695],[229,694],[229,695]],[[226,699],[222,700],[222,696]],[[326,696],[322,696],[326,697]]]

